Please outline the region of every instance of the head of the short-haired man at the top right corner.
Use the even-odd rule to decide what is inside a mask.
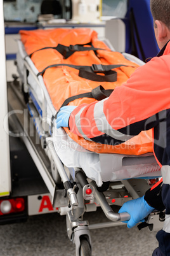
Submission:
[[[154,18],[155,38],[162,48],[170,39],[170,1],[150,0],[150,10]]]

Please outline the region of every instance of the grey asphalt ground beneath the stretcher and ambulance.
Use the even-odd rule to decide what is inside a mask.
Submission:
[[[98,209],[86,213],[89,223],[103,221]],[[106,220],[105,220],[106,221]],[[75,246],[67,238],[65,216],[58,214],[31,217],[22,224],[0,226],[1,256],[74,256]],[[156,232],[138,231],[126,225],[90,231],[93,256],[149,256],[157,247]]]

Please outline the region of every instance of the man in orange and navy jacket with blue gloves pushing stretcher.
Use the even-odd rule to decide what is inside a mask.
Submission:
[[[126,211],[131,215],[127,221],[131,228],[143,222],[152,210],[166,208],[164,227],[157,233],[159,248],[153,255],[170,255],[170,1],[150,0],[150,8],[161,49],[157,57],[136,69],[110,97],[97,103],[61,108],[56,125],[69,127],[89,141],[112,145],[154,128],[154,154],[163,183],[148,190],[145,196],[125,203],[119,213]]]

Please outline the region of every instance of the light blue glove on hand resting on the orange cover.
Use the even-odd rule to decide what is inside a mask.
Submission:
[[[77,106],[63,106],[56,116],[56,128],[68,127],[69,117]]]

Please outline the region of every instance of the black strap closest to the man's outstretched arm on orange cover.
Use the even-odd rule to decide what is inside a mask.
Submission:
[[[63,102],[63,104],[60,108],[62,108],[63,106],[67,106],[67,104],[69,104],[71,101],[74,101],[75,99],[80,99],[83,97],[93,98],[93,99],[96,99],[97,101],[101,101],[101,99],[105,99],[105,98],[109,97],[113,91],[114,91],[113,89],[105,90],[101,85],[99,85],[95,89],[91,90],[91,92],[85,92],[84,94],[77,94],[75,96],[71,96],[71,97],[65,99],[65,101]],[[58,110],[58,111],[60,111],[60,110]],[[55,118],[56,118],[57,114],[58,114],[58,112],[56,113]]]

